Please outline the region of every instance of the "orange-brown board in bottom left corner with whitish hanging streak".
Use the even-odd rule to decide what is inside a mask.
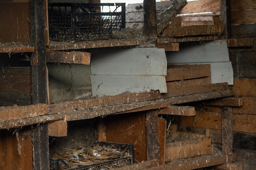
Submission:
[[[0,170],[33,169],[33,131],[0,131]]]

